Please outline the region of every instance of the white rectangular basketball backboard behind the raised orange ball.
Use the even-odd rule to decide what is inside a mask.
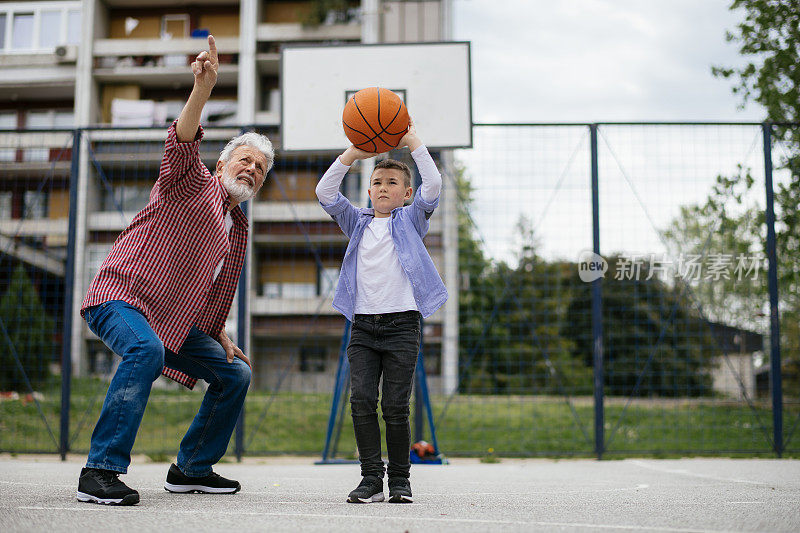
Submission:
[[[472,146],[468,42],[289,45],[280,79],[283,151],[345,149],[344,105],[366,87],[400,95],[429,148]]]

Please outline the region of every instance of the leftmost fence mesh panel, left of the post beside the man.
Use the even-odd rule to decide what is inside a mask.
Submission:
[[[0,449],[61,448],[73,131],[0,132]]]

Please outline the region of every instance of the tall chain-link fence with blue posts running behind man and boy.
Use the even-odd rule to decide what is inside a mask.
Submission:
[[[240,131],[207,128],[203,162]],[[473,148],[434,154],[452,196],[426,245],[444,274],[457,228],[458,327],[425,321],[415,440],[434,437],[430,408],[446,455],[796,453],[797,133],[486,124]],[[118,358],[76,306],[147,203],[163,136],[0,132],[0,450],[88,451]],[[231,454],[355,457],[330,305],[347,241],[314,194],[335,155],[279,153],[248,207],[227,330],[254,378]],[[362,184],[355,166],[343,192],[363,203]],[[134,453],[174,454],[202,390],[157,380]]]

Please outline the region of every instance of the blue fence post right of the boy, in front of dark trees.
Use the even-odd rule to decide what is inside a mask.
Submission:
[[[589,125],[592,145],[592,249],[600,255],[600,184],[597,169],[597,124]],[[592,361],[594,366],[594,451],[598,459],[605,451],[603,408],[603,278],[592,282]]]

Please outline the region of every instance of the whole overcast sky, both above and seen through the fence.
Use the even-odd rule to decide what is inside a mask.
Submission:
[[[453,0],[454,38],[472,55],[473,121],[760,121],[712,65],[742,64],[725,41],[730,0]],[[704,201],[742,164],[761,179],[758,127],[605,127],[599,146],[601,252],[665,251],[680,206]],[[474,130],[456,153],[480,201],[489,254],[509,257],[514,224],[534,224],[545,256],[591,247],[588,132]],[[763,196],[756,190],[754,198]]]

